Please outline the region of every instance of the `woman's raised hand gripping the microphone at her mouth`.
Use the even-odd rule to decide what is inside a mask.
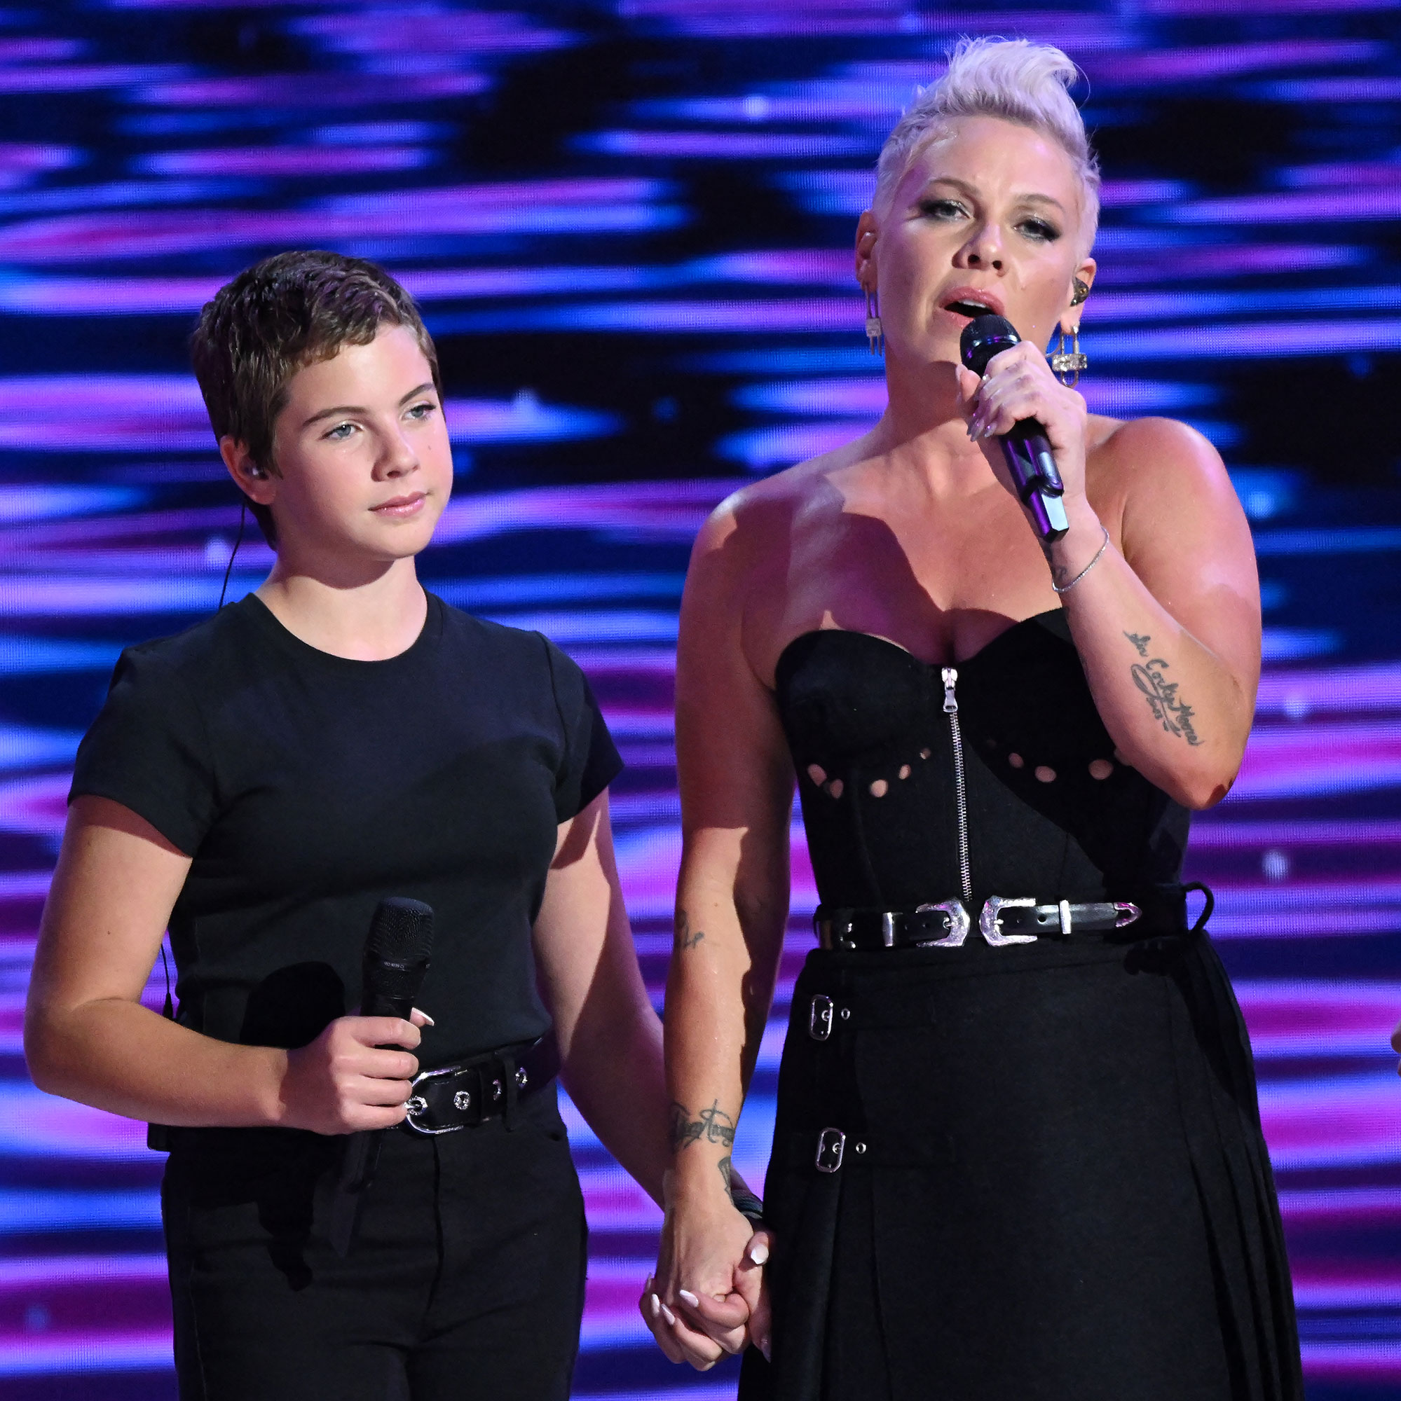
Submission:
[[[1084,496],[1084,395],[1068,389],[1034,345],[1023,340],[1010,350],[999,350],[988,361],[982,380],[960,366],[958,391],[968,436],[985,444],[984,451],[1003,485],[1012,489],[1002,453],[992,440],[1021,419],[1035,419],[1045,429],[1065,482],[1066,506]]]

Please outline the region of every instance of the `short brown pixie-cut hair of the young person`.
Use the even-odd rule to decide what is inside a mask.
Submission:
[[[368,345],[381,326],[413,332],[441,395],[433,338],[413,298],[382,268],[342,254],[290,252],[241,272],[205,304],[191,336],[214,437],[242,443],[262,471],[276,475],[273,432],[291,377],[342,346]],[[272,511],[252,500],[248,509],[276,548]]]

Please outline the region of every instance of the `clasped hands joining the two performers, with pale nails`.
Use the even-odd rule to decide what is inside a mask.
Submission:
[[[679,1220],[664,1187],[657,1274],[637,1307],[657,1346],[671,1362],[709,1372],[723,1356],[752,1344],[769,1355],[769,1296],[764,1264],[772,1236],[755,1230],[727,1201],[696,1203]]]

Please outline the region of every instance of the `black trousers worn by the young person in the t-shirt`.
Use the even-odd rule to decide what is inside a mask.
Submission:
[[[202,1131],[161,1189],[181,1401],[553,1401],[583,1313],[583,1196],[553,1090],[384,1135],[350,1254],[339,1139]]]

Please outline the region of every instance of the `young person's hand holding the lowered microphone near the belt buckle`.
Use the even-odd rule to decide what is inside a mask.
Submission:
[[[408,1021],[338,1017],[315,1041],[287,1052],[279,1122],[314,1133],[392,1128],[403,1119],[409,1082],[419,1070],[409,1052],[419,1044],[419,1027],[432,1024],[417,1007]]]

